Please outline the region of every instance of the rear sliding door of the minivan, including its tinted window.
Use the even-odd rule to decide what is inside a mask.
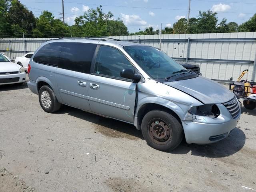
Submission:
[[[66,42],[60,52],[56,80],[62,102],[90,111],[88,77],[97,44]]]

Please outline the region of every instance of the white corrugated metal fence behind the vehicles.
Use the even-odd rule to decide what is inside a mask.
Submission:
[[[202,75],[216,80],[236,80],[249,69],[244,78],[256,80],[256,32],[216,34],[166,34],[113,36],[161,48],[177,61],[200,64]],[[12,60],[25,52],[34,52],[50,38],[0,39],[0,51]]]

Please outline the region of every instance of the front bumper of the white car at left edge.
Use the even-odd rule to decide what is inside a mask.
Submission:
[[[0,75],[0,85],[23,83],[26,81],[26,73]]]

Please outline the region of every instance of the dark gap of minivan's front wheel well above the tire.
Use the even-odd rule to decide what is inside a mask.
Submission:
[[[140,107],[140,110],[138,111],[138,124],[141,125],[142,123],[142,119],[143,117],[150,111],[152,110],[162,110],[165,112],[168,112],[170,114],[172,114],[173,116],[175,116],[177,118],[177,120],[181,123],[179,116],[171,109],[159,105],[159,104],[154,104],[154,103],[148,103],[148,104],[144,104],[143,106]]]

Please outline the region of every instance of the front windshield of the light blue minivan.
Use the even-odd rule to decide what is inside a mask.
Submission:
[[[161,79],[184,73],[186,68],[167,56],[162,50],[150,46],[126,46],[124,50],[151,77]]]

